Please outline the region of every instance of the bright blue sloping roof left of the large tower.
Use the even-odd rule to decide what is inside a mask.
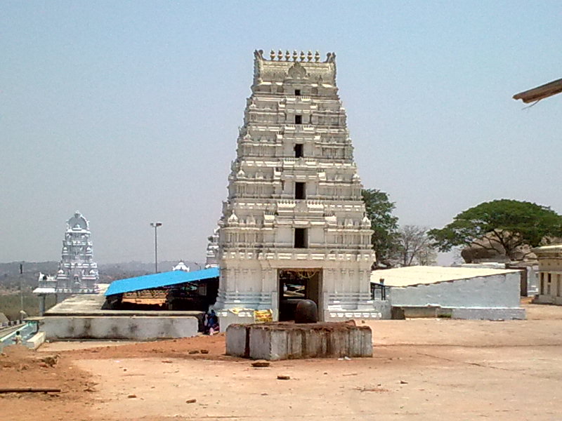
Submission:
[[[107,288],[107,291],[105,291],[105,296],[160,288],[162,286],[176,285],[177,283],[197,282],[203,279],[217,277],[218,267],[209,267],[209,269],[196,270],[194,272],[174,270],[171,272],[162,272],[161,274],[136,276],[136,278],[113,281],[110,287]]]

